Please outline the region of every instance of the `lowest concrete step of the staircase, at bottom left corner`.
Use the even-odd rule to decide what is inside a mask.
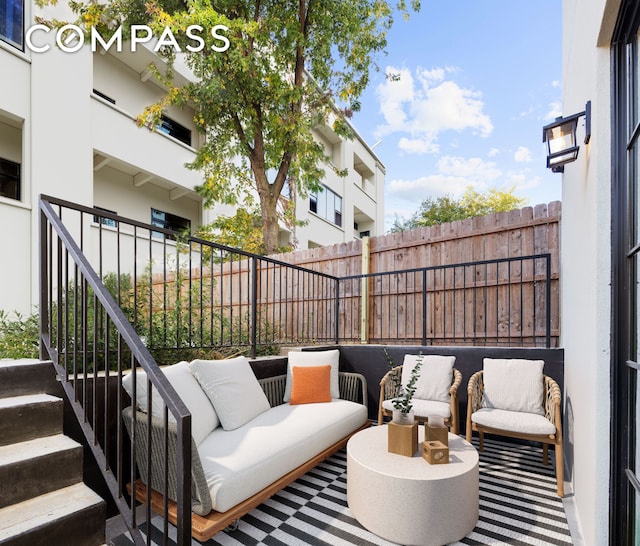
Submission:
[[[99,546],[104,501],[79,483],[0,509],[2,546]]]

